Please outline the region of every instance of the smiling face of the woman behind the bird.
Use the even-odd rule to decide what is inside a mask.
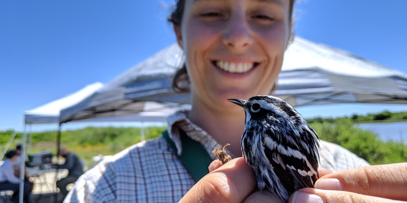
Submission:
[[[193,98],[223,109],[233,106],[228,98],[267,94],[289,39],[289,0],[186,0],[184,8],[175,32]]]

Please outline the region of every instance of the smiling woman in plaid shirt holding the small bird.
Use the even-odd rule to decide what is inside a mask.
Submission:
[[[244,114],[226,99],[247,99],[275,88],[291,38],[293,4],[294,0],[179,0],[170,20],[186,65],[176,74],[174,86],[177,91],[190,91],[192,109],[168,118],[168,136],[164,133],[164,137],[133,145],[85,173],[65,201],[279,202],[267,192],[255,192],[252,170],[243,158],[237,158]],[[185,81],[190,86],[182,86]],[[185,140],[199,143],[212,160],[212,149],[230,143],[227,150],[235,159],[224,166],[212,162],[212,172],[194,180],[194,170],[202,160],[196,158],[191,166],[182,156],[194,158],[199,146],[186,150]],[[337,145],[322,142],[321,146],[321,167],[329,171],[368,165]],[[354,191],[337,173],[329,175],[332,178],[319,181],[319,188]],[[329,195],[336,195],[306,191],[294,193],[293,199],[328,201]],[[347,202],[347,196],[342,197],[340,201]]]

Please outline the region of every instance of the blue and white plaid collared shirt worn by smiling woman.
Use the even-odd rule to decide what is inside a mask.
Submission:
[[[221,147],[214,138],[191,123],[186,113],[185,110],[179,111],[168,117],[168,134],[177,152],[162,136],[137,143],[83,174],[64,202],[178,202],[195,185],[176,154],[182,150],[179,131],[201,143],[213,160],[216,158],[212,149]],[[325,141],[320,144],[322,168],[335,172],[369,165],[339,145]]]

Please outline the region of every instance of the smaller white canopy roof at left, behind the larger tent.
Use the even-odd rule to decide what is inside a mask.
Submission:
[[[102,86],[103,84],[100,82],[88,84],[79,91],[66,95],[65,97],[57,99],[53,102],[49,102],[37,108],[27,110],[24,112],[24,121],[27,124],[58,123],[59,112],[61,109],[77,104],[78,102],[92,95]]]

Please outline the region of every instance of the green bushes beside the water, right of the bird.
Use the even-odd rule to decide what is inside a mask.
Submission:
[[[370,164],[407,162],[407,145],[393,140],[383,141],[368,130],[355,127],[354,123],[407,121],[407,112],[383,111],[377,114],[342,118],[306,119],[321,140],[341,145]]]

